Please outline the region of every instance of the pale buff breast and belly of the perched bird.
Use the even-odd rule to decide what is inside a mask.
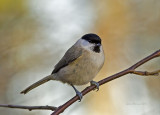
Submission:
[[[61,70],[60,81],[73,85],[84,85],[93,80],[103,66],[104,56],[100,53],[83,52],[79,58]]]

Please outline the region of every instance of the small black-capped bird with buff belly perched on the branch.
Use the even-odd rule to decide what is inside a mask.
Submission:
[[[86,34],[67,50],[55,65],[51,75],[37,81],[21,93],[26,94],[45,82],[57,80],[71,85],[81,101],[83,95],[74,85],[85,85],[90,82],[99,90],[99,84],[93,81],[93,78],[102,68],[104,59],[101,38],[93,33]]]

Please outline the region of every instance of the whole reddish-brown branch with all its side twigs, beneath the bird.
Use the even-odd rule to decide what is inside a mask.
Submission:
[[[158,76],[160,73],[160,70],[157,71],[153,71],[153,72],[143,72],[143,71],[136,71],[135,69],[138,68],[139,66],[143,65],[144,63],[150,61],[151,59],[154,59],[156,57],[160,56],[160,50],[154,52],[153,54],[147,56],[146,58],[142,59],[141,61],[137,62],[136,64],[134,64],[133,66],[129,67],[128,69],[125,69],[119,73],[116,73],[114,75],[111,75],[101,81],[99,81],[99,85],[103,85],[107,82],[110,82],[114,79],[117,79],[119,77],[122,77],[126,74],[136,74],[136,75],[143,75],[143,76],[149,76],[149,75],[154,75],[154,76]],[[94,90],[95,86],[91,85],[86,87],[81,93],[82,95],[86,95],[87,93],[89,93],[90,91]],[[72,105],[74,102],[76,102],[79,99],[78,96],[74,96],[72,99],[70,99],[69,101],[67,101],[65,104],[63,104],[62,106],[57,107],[53,107],[53,106],[20,106],[20,105],[0,105],[0,107],[6,107],[6,108],[17,108],[17,109],[28,109],[29,111],[32,110],[52,110],[54,111],[51,115],[59,115],[60,113],[62,113],[66,108],[68,108],[70,105]]]

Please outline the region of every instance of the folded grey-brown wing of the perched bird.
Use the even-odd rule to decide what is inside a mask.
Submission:
[[[76,60],[79,56],[82,55],[82,49],[76,48],[76,46],[72,46],[68,51],[64,54],[62,59],[55,65],[53,73],[57,73],[61,68],[67,66],[69,63]]]

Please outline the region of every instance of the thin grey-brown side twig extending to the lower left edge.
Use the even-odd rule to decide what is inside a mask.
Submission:
[[[5,108],[14,108],[14,109],[28,109],[29,111],[32,110],[52,110],[55,111],[57,107],[53,106],[21,106],[21,105],[6,105],[6,104],[0,104],[0,107],[5,107]]]

